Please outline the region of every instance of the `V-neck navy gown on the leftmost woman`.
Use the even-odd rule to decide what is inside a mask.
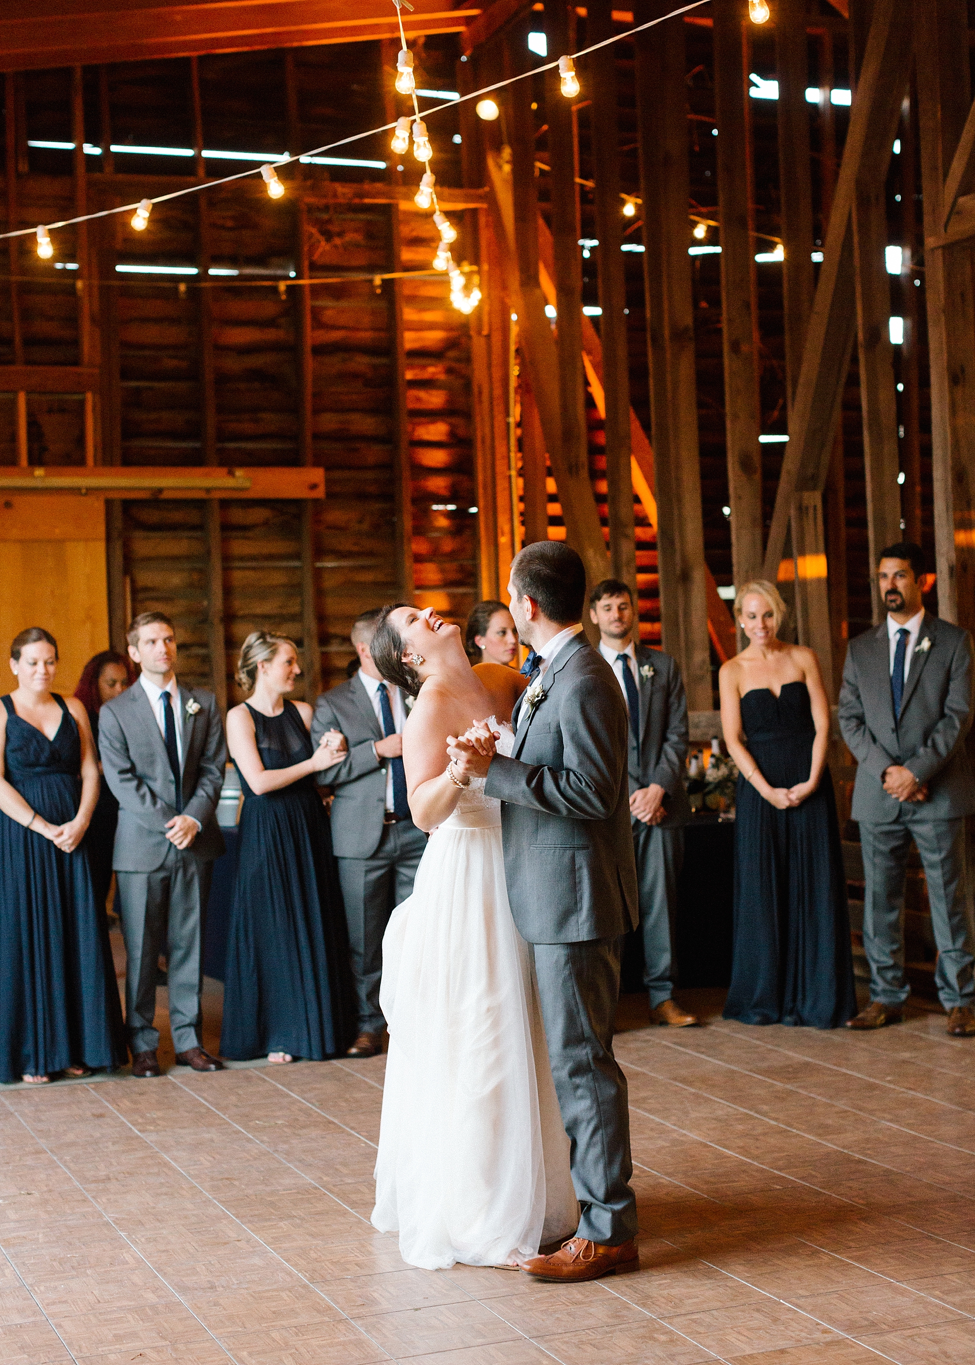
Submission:
[[[55,693],[53,740],[7,711],[4,777],[52,824],[78,814],[81,738]],[[104,908],[82,842],[63,853],[0,812],[0,1081],[66,1066],[113,1067],[126,1058]]]

